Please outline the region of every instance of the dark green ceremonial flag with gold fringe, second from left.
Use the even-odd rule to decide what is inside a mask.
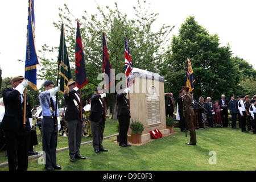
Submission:
[[[63,24],[61,25],[58,64],[60,65],[60,92],[64,94],[64,92],[67,91],[67,93],[69,93],[68,82],[72,81],[73,79],[69,66],[68,51],[65,43],[65,32]]]

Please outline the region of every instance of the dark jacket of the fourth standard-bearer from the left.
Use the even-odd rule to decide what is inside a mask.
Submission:
[[[90,121],[98,122],[104,115],[104,100],[100,95],[94,94],[90,100]]]

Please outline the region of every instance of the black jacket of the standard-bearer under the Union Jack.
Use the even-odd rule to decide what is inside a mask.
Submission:
[[[118,93],[116,97],[117,101],[117,116],[130,115],[129,100],[125,97],[126,93]]]

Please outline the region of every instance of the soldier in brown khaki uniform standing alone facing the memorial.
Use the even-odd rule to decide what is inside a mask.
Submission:
[[[185,122],[188,125],[189,134],[190,134],[190,142],[186,144],[196,145],[196,130],[195,130],[195,126],[193,125],[194,111],[192,109],[193,96],[190,93],[188,93],[188,90],[189,90],[188,86],[182,87],[183,115],[185,117]]]

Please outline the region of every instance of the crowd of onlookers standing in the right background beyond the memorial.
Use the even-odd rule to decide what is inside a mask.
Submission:
[[[165,96],[166,116],[174,117],[174,96],[172,93],[166,93]],[[184,94],[182,90],[180,90],[179,96],[177,96],[176,119],[179,120],[180,130],[184,132],[185,117],[183,116],[183,96]],[[210,97],[207,97],[207,99],[204,100],[204,98],[200,96],[198,102],[193,99],[191,102],[191,107],[194,111],[194,126],[197,129],[205,127],[205,124],[207,124],[208,127],[228,127],[230,120],[232,129],[238,129],[239,127],[244,133],[252,131],[254,134],[256,134],[256,95],[254,95],[253,99],[251,100],[249,95],[237,96],[237,100],[235,100],[235,96],[232,94],[229,98],[229,100],[226,100],[225,95],[222,94],[221,99],[214,100],[214,102],[212,102],[212,98]],[[228,110],[231,117],[229,117]]]

